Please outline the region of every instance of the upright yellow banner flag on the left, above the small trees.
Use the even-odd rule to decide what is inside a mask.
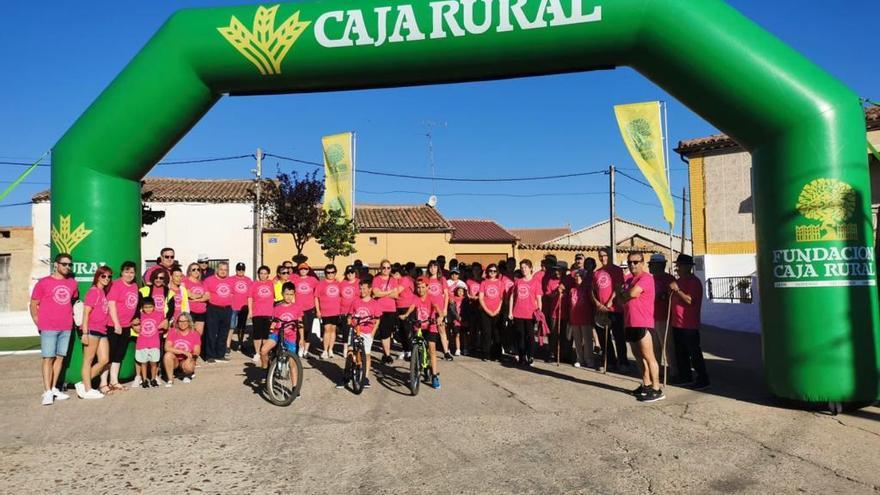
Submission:
[[[321,138],[324,147],[324,209],[354,214],[354,135],[351,132]]]

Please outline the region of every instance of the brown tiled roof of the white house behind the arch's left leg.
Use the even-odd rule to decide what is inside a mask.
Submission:
[[[250,203],[253,181],[246,179],[174,179],[147,177],[144,192],[153,193],[149,201],[157,203]],[[35,194],[34,203],[49,201],[49,190]]]

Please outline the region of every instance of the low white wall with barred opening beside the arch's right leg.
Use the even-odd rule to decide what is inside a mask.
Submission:
[[[761,333],[761,317],[758,311],[760,294],[754,254],[707,254],[702,267],[694,274],[703,281],[702,322],[725,330]],[[699,260],[698,260],[699,262]],[[717,277],[751,277],[752,302],[709,301],[706,280]]]

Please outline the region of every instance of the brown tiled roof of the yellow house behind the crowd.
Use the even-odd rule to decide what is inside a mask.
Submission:
[[[452,232],[452,225],[427,205],[356,205],[361,232]]]

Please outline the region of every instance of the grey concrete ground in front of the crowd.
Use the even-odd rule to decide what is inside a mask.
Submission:
[[[303,396],[269,404],[251,364],[192,384],[40,406],[38,358],[0,358],[0,491],[7,493],[880,492],[880,409],[781,407],[758,337],[704,332],[713,387],[641,404],[630,377],[458,358],[410,397],[402,362],[336,390],[337,357]]]

